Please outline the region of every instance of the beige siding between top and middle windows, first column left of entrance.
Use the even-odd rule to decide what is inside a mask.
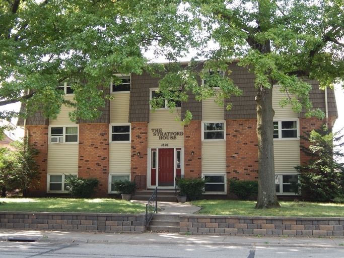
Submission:
[[[130,92],[113,93],[110,101],[110,123],[127,123]]]

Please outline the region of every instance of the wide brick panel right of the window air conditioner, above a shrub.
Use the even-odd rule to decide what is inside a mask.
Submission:
[[[108,193],[109,177],[109,125],[79,125],[79,177],[99,179],[98,196]]]

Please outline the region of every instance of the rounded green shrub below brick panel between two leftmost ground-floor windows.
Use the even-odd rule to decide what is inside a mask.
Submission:
[[[91,198],[99,185],[97,178],[82,178],[70,176],[66,180],[67,190],[74,198]]]

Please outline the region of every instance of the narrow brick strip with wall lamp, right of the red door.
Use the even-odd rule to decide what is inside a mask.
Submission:
[[[184,173],[185,177],[202,175],[202,122],[191,121],[184,126]],[[191,153],[193,152],[193,155]]]

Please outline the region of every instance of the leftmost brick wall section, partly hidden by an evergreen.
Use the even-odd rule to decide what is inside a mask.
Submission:
[[[48,172],[48,126],[47,125],[30,125],[26,126],[29,131],[29,144],[33,144],[39,150],[36,162],[39,165],[41,176],[37,189],[30,188],[29,196],[40,197],[46,195],[47,189],[47,172]],[[25,135],[26,132],[25,132]]]

